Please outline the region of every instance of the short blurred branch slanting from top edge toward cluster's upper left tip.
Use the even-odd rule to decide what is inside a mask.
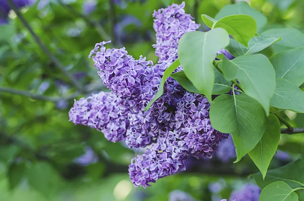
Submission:
[[[66,5],[64,3],[62,3],[61,0],[58,1],[60,5],[62,5],[64,8],[67,8],[71,13],[73,13],[75,16],[78,16],[82,19],[84,19],[91,27],[96,28],[97,32],[99,33],[99,35],[105,40],[105,41],[110,41],[111,37],[105,32],[104,28],[97,22],[93,22],[91,21],[87,16],[85,16],[84,14],[78,12],[77,10],[75,10],[72,6],[70,5]]]

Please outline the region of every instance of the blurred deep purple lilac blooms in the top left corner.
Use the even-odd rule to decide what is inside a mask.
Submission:
[[[35,2],[35,0],[13,0],[13,3],[17,8],[22,8],[25,6],[30,6]],[[8,16],[10,13],[10,6],[6,0],[0,0],[0,25],[8,23]]]

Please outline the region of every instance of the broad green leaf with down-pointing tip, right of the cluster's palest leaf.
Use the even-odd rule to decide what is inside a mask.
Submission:
[[[237,78],[244,92],[257,100],[269,114],[270,99],[276,88],[276,74],[270,61],[261,54],[223,59],[223,74],[227,80]]]

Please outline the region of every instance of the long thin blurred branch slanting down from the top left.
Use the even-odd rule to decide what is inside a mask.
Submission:
[[[25,20],[25,18],[21,15],[18,8],[15,6],[12,0],[8,0],[8,3],[12,10],[16,13],[16,15],[20,18],[23,25],[28,29],[32,37],[35,39],[36,43],[41,47],[41,49],[46,53],[46,55],[56,64],[56,66],[62,71],[63,74],[65,74],[69,81],[80,91],[83,91],[83,87],[80,85],[80,83],[73,77],[72,74],[70,74],[67,70],[65,70],[64,66],[60,63],[59,60],[57,60],[56,57],[52,55],[52,53],[47,49],[47,47],[42,43],[41,39],[35,34],[33,29],[30,27],[28,22]]]

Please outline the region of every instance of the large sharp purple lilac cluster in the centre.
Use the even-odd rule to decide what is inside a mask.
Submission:
[[[227,137],[211,126],[210,103],[205,96],[185,91],[174,79],[164,85],[164,94],[149,110],[145,106],[159,90],[165,69],[177,58],[181,35],[199,25],[184,13],[184,3],[154,13],[159,63],[145,57],[134,59],[125,48],[108,49],[102,42],[89,57],[110,93],[100,92],[75,101],[70,121],[97,129],[112,142],[125,141],[130,148],[149,148],[129,165],[135,186],[185,170],[187,156],[211,157]],[[181,70],[180,66],[178,70]]]

